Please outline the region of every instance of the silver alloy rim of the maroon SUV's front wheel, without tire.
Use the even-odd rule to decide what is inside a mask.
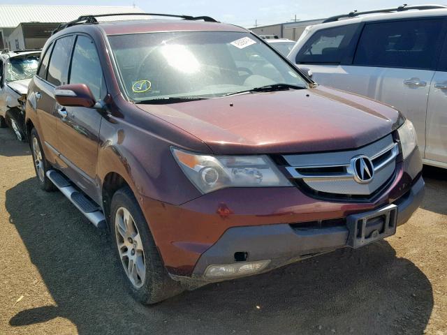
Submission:
[[[127,277],[135,288],[141,288],[146,276],[145,253],[135,221],[124,207],[119,207],[115,214],[115,237]]]

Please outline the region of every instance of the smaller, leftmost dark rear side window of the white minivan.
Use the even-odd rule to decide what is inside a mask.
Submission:
[[[296,56],[297,63],[339,63],[351,45],[358,25],[349,24],[316,31]]]

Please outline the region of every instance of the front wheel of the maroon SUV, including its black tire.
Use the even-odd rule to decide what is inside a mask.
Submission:
[[[155,304],[183,292],[180,283],[168,275],[129,187],[121,188],[113,195],[110,209],[110,230],[117,260],[135,299],[141,304]],[[126,213],[129,216],[126,217]]]

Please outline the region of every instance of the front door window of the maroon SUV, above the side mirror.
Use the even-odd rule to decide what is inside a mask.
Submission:
[[[70,84],[86,84],[94,97],[101,99],[101,87],[104,87],[103,71],[93,41],[78,36],[73,60],[71,61]]]

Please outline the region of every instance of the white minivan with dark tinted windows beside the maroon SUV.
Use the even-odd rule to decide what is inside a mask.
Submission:
[[[416,128],[423,163],[447,168],[446,27],[446,6],[352,12],[307,27],[288,59],[320,84],[396,107]]]

